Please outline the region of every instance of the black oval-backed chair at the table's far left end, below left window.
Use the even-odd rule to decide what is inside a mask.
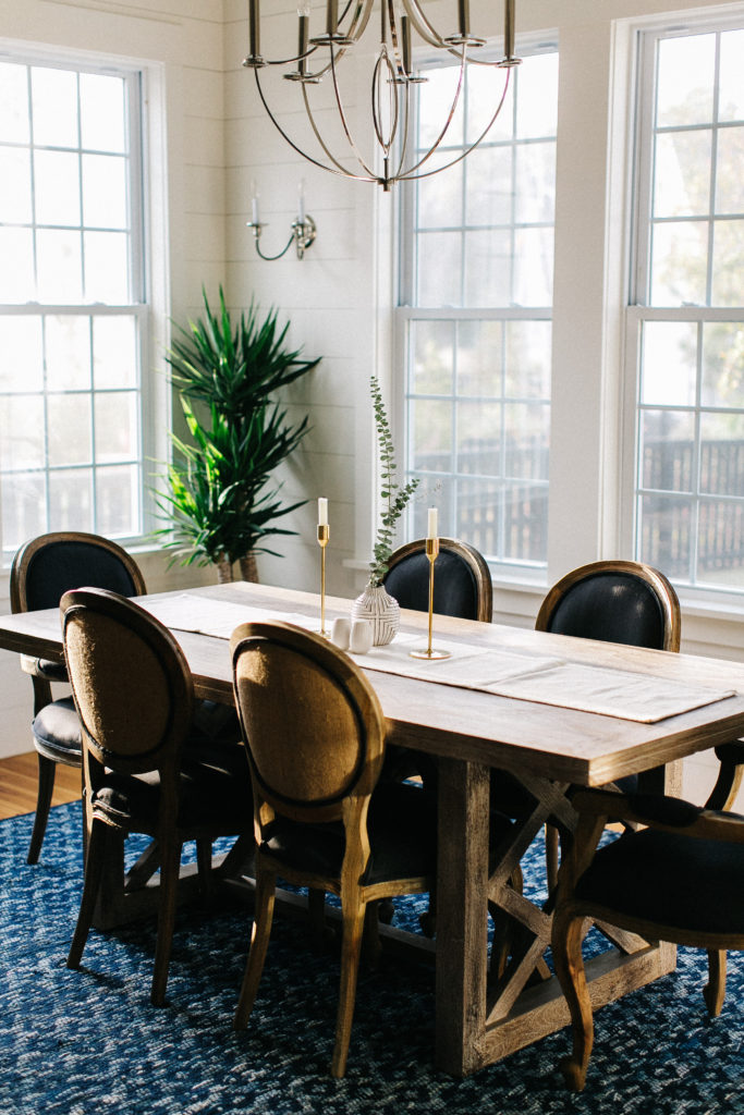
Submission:
[[[57,608],[68,589],[110,589],[125,597],[145,593],[145,581],[126,550],[99,534],[58,531],[22,545],[10,571],[12,612]],[[37,752],[39,785],[28,863],[37,863],[49,817],[57,764],[83,762],[80,725],[71,697],[52,700],[51,683],[67,681],[64,662],[21,655],[21,669],[33,686],[31,736]]]

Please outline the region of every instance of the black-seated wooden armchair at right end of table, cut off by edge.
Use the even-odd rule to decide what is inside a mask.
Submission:
[[[582,789],[573,797],[579,824],[561,862],[551,948],[573,1038],[561,1070],[576,1092],[584,1086],[593,1043],[582,957],[587,919],[645,940],[706,949],[703,996],[711,1017],[721,1011],[726,950],[744,949],[744,816],[722,808],[741,783],[744,745],[727,744],[716,753],[721,774],[705,807],[661,794],[607,789]],[[646,827],[597,850],[610,817]],[[621,1041],[620,1035],[613,1040]]]

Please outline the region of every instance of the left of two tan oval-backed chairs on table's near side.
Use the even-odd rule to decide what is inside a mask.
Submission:
[[[181,850],[197,845],[207,889],[212,841],[252,831],[245,752],[201,758],[186,743],[193,681],[178,643],[134,601],[76,589],[60,602],[65,657],[83,729],[88,850],[80,911],[67,967],[80,966],[107,853],[144,833],[157,842],[160,893],[151,1001],[162,1006],[168,975]],[[201,852],[201,854],[199,854]]]

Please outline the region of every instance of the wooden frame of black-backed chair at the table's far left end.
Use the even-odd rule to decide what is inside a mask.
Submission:
[[[105,539],[103,535],[88,534],[84,531],[52,531],[49,534],[40,534],[36,539],[31,539],[17,551],[10,570],[11,612],[29,611],[27,581],[29,569],[37,554],[50,545],[65,542],[80,542],[107,551],[119,560],[129,574],[135,586],[135,595],[144,595],[147,591],[145,579],[136,561],[126,550],[117,545],[116,542],[112,542],[110,539]],[[69,588],[78,588],[78,585],[69,585]],[[31,685],[33,686],[33,716],[36,717],[42,708],[52,701],[51,682],[67,681],[67,671],[61,665],[45,663],[29,655],[21,655],[20,662],[23,672],[28,673],[31,678]],[[37,762],[39,767],[39,785],[27,863],[37,863],[39,860],[47,821],[49,820],[57,764],[62,763],[66,766],[79,767],[83,758],[81,753],[78,755],[75,752],[70,752],[65,757],[56,755],[52,758],[51,755],[45,755],[37,748]]]

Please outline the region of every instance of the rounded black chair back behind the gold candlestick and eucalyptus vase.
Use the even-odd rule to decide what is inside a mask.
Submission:
[[[426,540],[418,539],[395,551],[384,583],[402,608],[427,612],[428,576]],[[474,546],[454,539],[439,539],[434,565],[434,611],[439,615],[491,622],[491,573]]]

